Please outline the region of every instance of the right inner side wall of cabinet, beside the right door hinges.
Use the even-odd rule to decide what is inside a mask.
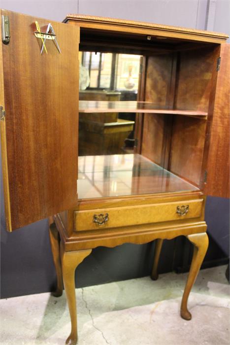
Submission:
[[[177,109],[208,112],[218,56],[219,46],[180,53]],[[199,187],[203,185],[206,136],[207,121],[180,115],[174,117],[169,169]]]

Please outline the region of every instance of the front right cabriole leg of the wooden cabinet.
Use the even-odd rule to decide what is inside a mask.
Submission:
[[[187,308],[188,298],[208,248],[208,236],[206,233],[201,233],[188,235],[187,239],[194,244],[194,252],[189,276],[182,297],[181,317],[185,320],[191,320],[192,315]]]

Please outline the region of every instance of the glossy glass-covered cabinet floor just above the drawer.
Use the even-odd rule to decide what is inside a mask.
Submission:
[[[139,154],[78,158],[79,199],[198,190]]]

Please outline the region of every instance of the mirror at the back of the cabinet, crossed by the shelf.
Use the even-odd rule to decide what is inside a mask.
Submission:
[[[137,101],[140,55],[80,52],[80,101]],[[79,113],[79,156],[133,153],[135,113]]]

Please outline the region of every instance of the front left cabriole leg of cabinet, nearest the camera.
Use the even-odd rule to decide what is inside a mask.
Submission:
[[[77,343],[77,309],[74,273],[76,267],[91,253],[91,251],[92,249],[65,251],[61,244],[63,280],[71,319],[71,333],[66,339],[66,344],[69,345],[75,345]]]

